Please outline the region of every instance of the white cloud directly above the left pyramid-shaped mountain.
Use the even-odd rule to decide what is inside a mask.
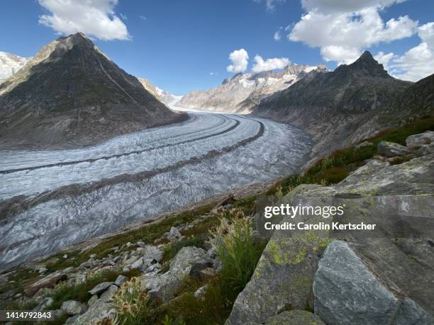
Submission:
[[[100,40],[129,40],[126,25],[113,8],[118,0],[38,0],[50,14],[39,17],[39,23],[57,33],[82,32]]]

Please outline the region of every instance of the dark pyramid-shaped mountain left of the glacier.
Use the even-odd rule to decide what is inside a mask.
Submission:
[[[82,33],[58,38],[0,85],[0,147],[75,147],[177,122]]]

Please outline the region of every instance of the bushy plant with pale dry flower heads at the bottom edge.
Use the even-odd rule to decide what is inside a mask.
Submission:
[[[150,314],[149,297],[141,290],[140,278],[131,278],[113,297],[117,314],[115,324],[146,324]]]

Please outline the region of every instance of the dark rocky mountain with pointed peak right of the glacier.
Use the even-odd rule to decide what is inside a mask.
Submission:
[[[263,99],[253,115],[288,122],[316,140],[313,154],[328,153],[374,135],[389,125],[379,117],[411,82],[395,79],[365,52],[333,72],[310,72],[284,91]]]

